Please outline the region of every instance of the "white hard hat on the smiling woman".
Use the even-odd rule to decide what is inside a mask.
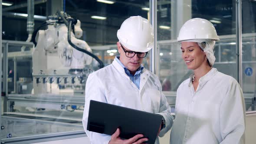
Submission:
[[[192,39],[220,40],[213,24],[205,19],[194,18],[188,20],[181,27],[177,41],[189,41]]]

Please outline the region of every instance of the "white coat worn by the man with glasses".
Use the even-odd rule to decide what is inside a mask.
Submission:
[[[165,128],[159,134],[161,137],[171,129],[173,124],[171,108],[162,93],[158,77],[143,69],[138,89],[116,60],[111,65],[89,75],[85,87],[85,108],[82,118],[84,130],[91,143],[108,144],[111,139],[110,135],[87,131],[90,100],[163,115]],[[159,144],[158,137],[156,144]]]

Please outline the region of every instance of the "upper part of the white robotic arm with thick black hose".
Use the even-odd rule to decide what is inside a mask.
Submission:
[[[48,29],[42,33],[45,38],[44,49],[46,52],[58,52],[62,65],[73,70],[83,69],[85,65],[91,64],[92,58],[99,62],[100,68],[104,67],[103,62],[92,54],[89,45],[85,41],[78,39],[82,36],[81,22],[79,20],[59,11],[58,15],[49,16],[48,18],[49,20],[42,24],[42,26],[48,26]],[[39,28],[32,36],[35,46],[37,45],[35,39]]]

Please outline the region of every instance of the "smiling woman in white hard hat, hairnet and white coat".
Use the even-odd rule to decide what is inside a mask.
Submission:
[[[170,144],[244,144],[245,106],[236,79],[213,68],[219,40],[212,23],[201,18],[181,27],[178,41],[190,78],[177,89]]]

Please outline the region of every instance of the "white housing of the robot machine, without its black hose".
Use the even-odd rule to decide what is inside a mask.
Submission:
[[[55,21],[48,20],[47,23]],[[74,27],[75,34],[71,32],[72,43],[92,52],[85,41],[77,39],[82,36],[79,20]],[[37,33],[37,45],[33,48],[32,54],[34,94],[59,94],[57,86],[59,84],[65,85],[65,87],[72,85],[71,89],[74,89],[77,85],[81,88],[81,84],[84,83],[82,80],[84,74],[90,72],[85,65],[92,63],[92,57],[70,46],[67,37],[68,28],[63,23],[48,25],[48,29],[39,30]],[[70,75],[69,69],[75,70],[75,72],[78,70],[78,72],[75,75]],[[57,78],[59,78],[58,82]]]

